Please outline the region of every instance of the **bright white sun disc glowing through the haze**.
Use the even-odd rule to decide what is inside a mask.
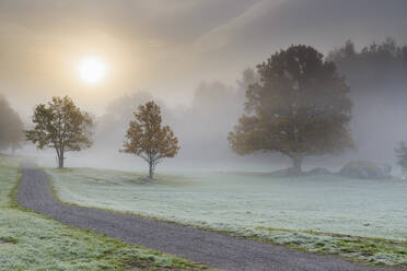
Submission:
[[[79,76],[88,84],[101,82],[106,76],[107,66],[97,57],[85,57],[78,64]]]

